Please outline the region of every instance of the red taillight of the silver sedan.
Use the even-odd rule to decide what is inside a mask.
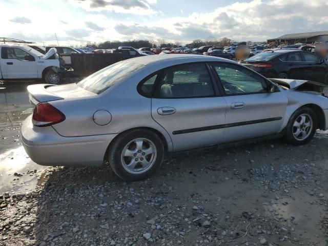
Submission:
[[[47,127],[65,120],[65,115],[48,103],[36,105],[32,122],[36,127]]]

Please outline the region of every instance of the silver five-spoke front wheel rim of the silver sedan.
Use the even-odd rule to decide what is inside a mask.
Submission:
[[[301,114],[298,116],[293,125],[293,135],[296,140],[304,140],[308,138],[312,132],[313,120],[309,114]]]

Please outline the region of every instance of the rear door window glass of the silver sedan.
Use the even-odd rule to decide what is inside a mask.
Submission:
[[[213,96],[214,90],[205,64],[187,64],[163,71],[158,83],[162,98]]]

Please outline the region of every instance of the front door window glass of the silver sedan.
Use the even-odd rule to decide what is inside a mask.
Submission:
[[[212,64],[227,95],[268,92],[264,78],[234,64]]]

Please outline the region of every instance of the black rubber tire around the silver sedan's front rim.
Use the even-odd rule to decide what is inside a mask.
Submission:
[[[301,115],[304,115],[304,114],[311,116],[312,121],[313,121],[312,129],[311,129],[311,131],[309,130],[309,135],[306,136],[306,138],[296,139],[296,137],[294,136],[294,132],[296,132],[297,128],[294,127],[294,123]],[[317,119],[316,113],[311,108],[308,108],[308,107],[300,108],[292,114],[290,120],[288,121],[288,124],[285,128],[285,132],[283,135],[283,140],[286,143],[292,144],[292,145],[307,144],[309,141],[311,141],[311,139],[313,138],[313,135],[316,133],[317,126],[318,126],[318,119]]]

